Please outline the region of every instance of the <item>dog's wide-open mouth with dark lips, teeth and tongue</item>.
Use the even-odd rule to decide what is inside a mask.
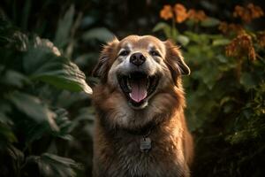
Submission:
[[[158,76],[148,76],[146,73],[134,72],[129,75],[119,75],[118,82],[125,96],[133,106],[143,104],[156,89]]]

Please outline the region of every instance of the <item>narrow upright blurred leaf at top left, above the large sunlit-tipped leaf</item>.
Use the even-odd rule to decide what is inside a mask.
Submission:
[[[64,18],[59,19],[57,32],[55,36],[54,43],[59,47],[63,48],[69,41],[69,35],[72,27],[74,15],[74,5],[71,5],[70,8],[65,12]]]

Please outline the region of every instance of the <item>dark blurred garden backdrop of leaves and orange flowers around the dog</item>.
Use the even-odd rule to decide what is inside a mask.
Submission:
[[[90,77],[102,45],[181,46],[192,176],[265,174],[264,2],[1,0],[0,176],[91,176]]]

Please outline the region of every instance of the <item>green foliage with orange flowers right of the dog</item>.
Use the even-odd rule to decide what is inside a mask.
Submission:
[[[193,176],[264,174],[265,50],[259,37],[264,31],[246,24],[263,12],[254,4],[246,6],[249,12],[244,8],[238,5],[233,12],[242,23],[229,24],[182,4],[167,5],[160,14],[172,25],[160,22],[154,28],[183,46],[192,70],[184,85],[186,117],[196,142]],[[179,23],[185,23],[184,33]]]

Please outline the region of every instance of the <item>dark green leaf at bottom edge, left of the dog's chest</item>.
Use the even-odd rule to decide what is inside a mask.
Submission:
[[[81,165],[71,158],[63,158],[54,154],[44,153],[42,156],[31,156],[27,162],[37,163],[42,176],[76,176],[75,169],[80,169]]]

